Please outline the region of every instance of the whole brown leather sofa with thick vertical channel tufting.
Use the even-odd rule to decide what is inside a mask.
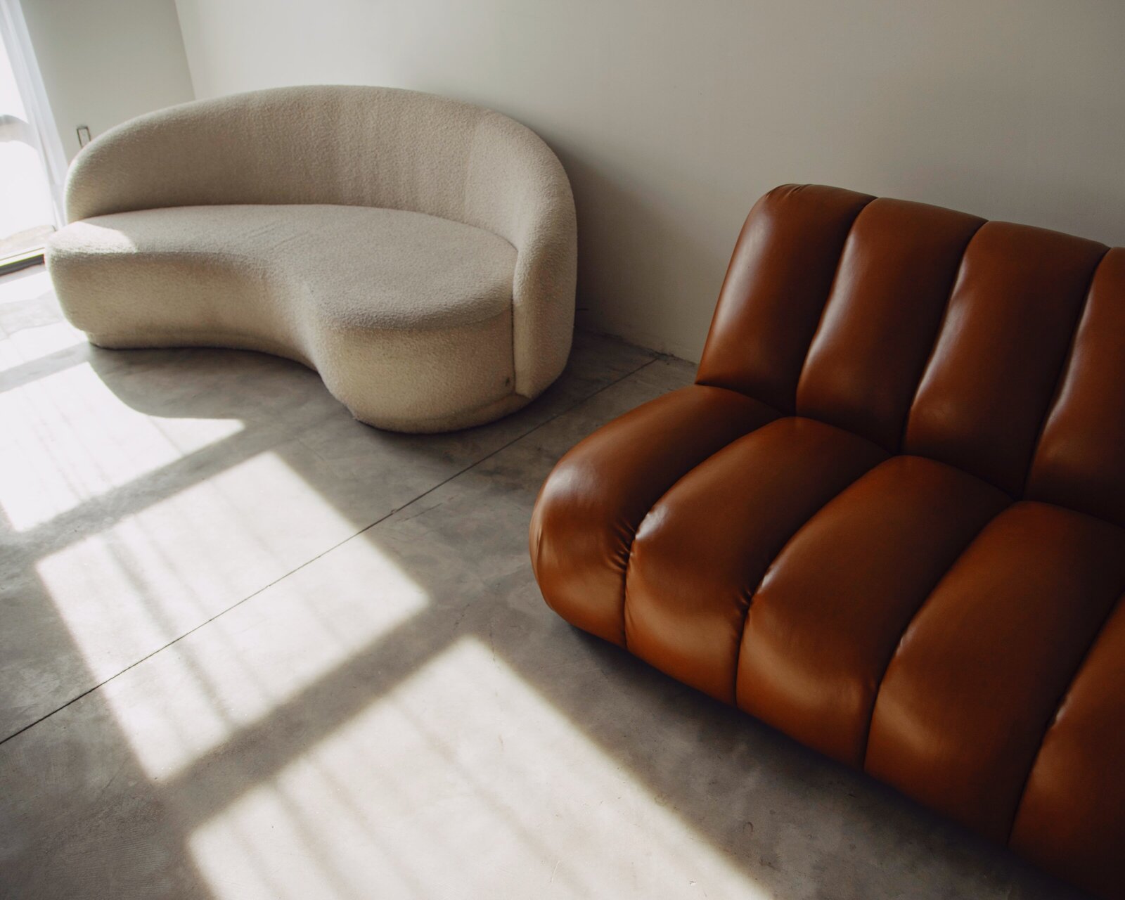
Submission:
[[[531,556],[578,628],[1120,898],[1123,525],[1125,249],[785,186]]]

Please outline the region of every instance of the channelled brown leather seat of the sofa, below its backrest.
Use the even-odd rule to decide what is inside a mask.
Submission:
[[[738,392],[694,385],[580,442],[531,540],[572,621],[997,840],[1025,784],[1022,839],[1065,812],[1045,734],[1040,764],[1071,777],[1107,765],[1076,735],[1125,713],[1101,648],[1125,636],[1125,530]]]

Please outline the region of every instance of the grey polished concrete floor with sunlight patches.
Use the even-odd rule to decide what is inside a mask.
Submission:
[[[691,375],[411,438],[0,279],[0,897],[1074,897],[543,605],[539,484]]]

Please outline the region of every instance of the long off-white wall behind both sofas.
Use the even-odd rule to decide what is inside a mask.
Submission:
[[[698,359],[753,200],[819,181],[1125,243],[1119,0],[177,0],[200,97],[389,84],[538,130],[586,324]]]

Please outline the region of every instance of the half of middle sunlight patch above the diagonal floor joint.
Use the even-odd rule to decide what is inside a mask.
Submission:
[[[99,512],[112,515],[112,500]],[[351,522],[268,452],[111,520],[44,556],[36,570],[101,680],[297,568],[310,546],[327,549],[353,532]],[[390,594],[403,609],[420,602],[413,583]],[[350,639],[370,637],[359,631]]]

